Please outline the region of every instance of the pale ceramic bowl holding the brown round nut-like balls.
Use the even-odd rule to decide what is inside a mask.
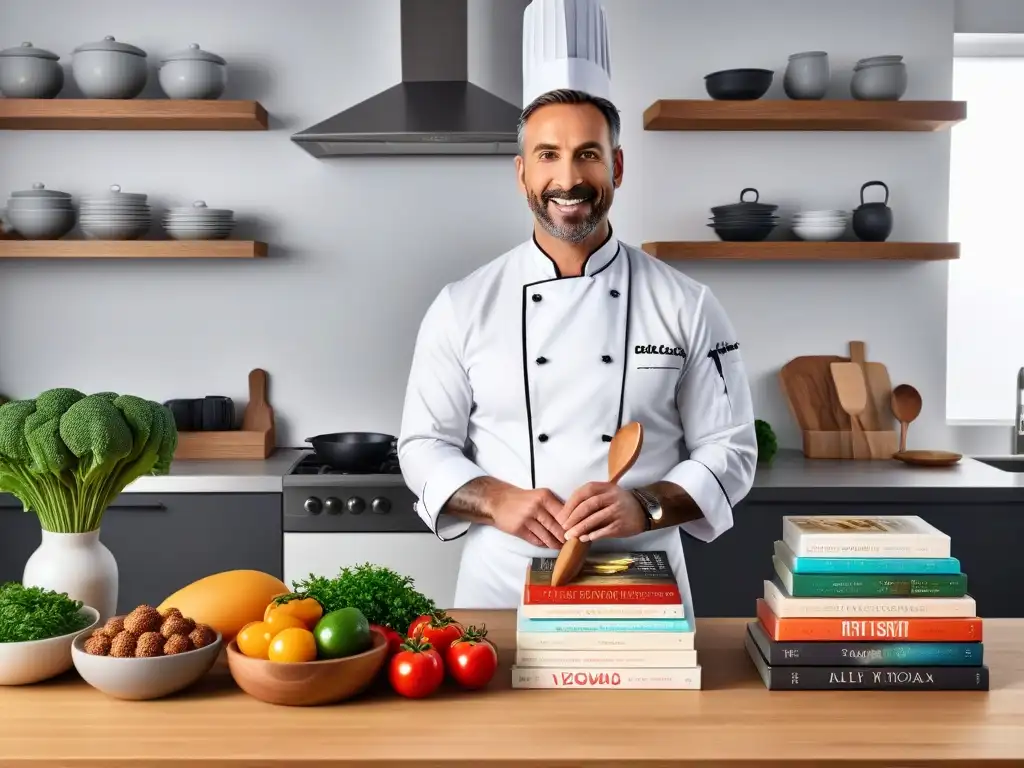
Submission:
[[[210,671],[220,652],[221,635],[203,648],[154,658],[95,656],[85,650],[89,635],[72,644],[75,669],[89,685],[114,698],[143,701],[162,698],[194,685]]]

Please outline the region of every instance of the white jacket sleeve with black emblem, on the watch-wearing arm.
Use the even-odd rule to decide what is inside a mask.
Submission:
[[[739,341],[707,288],[690,323],[688,353],[676,401],[689,457],[664,479],[686,490],[702,514],[680,527],[711,542],[732,527],[732,508],[754,483],[758,444]]]

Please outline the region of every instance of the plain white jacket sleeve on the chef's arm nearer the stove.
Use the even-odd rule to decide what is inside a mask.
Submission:
[[[465,453],[473,395],[461,349],[445,288],[420,325],[397,445],[402,477],[419,500],[417,513],[442,541],[470,526],[441,512],[444,505],[467,482],[486,474]]]

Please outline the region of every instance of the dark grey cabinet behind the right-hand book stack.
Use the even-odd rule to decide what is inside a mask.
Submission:
[[[771,579],[772,548],[783,515],[920,515],[951,539],[981,617],[1024,615],[1024,503],[985,489],[825,488],[752,492],[736,506],[734,526],[706,544],[683,535],[697,616],[751,616]],[[758,497],[761,497],[760,499]],[[812,498],[806,498],[812,497]],[[813,498],[818,497],[818,498]],[[843,498],[845,497],[845,499]]]

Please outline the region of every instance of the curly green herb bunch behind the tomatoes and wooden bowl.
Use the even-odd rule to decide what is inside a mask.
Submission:
[[[417,616],[437,609],[434,601],[416,590],[413,579],[383,565],[364,563],[343,567],[334,579],[309,574],[292,583],[298,596],[311,597],[330,613],[358,608],[370,624],[387,627],[403,637]]]

